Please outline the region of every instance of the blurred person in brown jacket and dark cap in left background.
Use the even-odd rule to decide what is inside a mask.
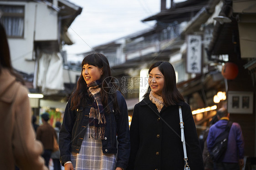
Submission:
[[[44,153],[42,157],[45,159],[45,164],[49,167],[49,160],[51,158],[51,152],[53,150],[54,137],[57,139],[54,128],[48,123],[50,119],[49,113],[45,112],[41,115],[43,124],[40,125],[36,130],[36,139],[40,140],[44,146]]]

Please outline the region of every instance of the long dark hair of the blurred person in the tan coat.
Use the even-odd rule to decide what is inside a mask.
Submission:
[[[0,23],[0,73],[2,68],[8,69],[23,85],[25,82],[21,75],[15,73],[10,60],[10,50],[4,26]]]

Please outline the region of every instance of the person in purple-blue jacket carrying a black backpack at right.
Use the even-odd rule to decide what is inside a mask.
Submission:
[[[218,160],[214,160],[214,170],[240,170],[240,167],[244,166],[244,139],[242,135],[241,127],[236,122],[229,121],[229,113],[225,108],[220,108],[217,111],[217,116],[219,121],[217,121],[214,125],[210,127],[209,135],[207,137],[207,147],[210,152],[217,155],[218,153],[214,153],[214,149],[216,151],[216,145],[218,145],[219,150],[220,145],[225,144],[227,141],[227,145],[224,146],[225,151],[222,155],[217,155],[220,157]],[[229,123],[230,122],[230,123]],[[228,127],[230,125],[231,127]],[[224,133],[229,133],[228,137],[222,139],[222,142],[216,144],[217,137],[219,135],[224,136]],[[220,138],[220,137],[219,137]]]

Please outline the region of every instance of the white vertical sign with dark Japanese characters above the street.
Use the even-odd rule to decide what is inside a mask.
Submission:
[[[200,74],[202,70],[201,36],[188,35],[187,40],[187,72]]]

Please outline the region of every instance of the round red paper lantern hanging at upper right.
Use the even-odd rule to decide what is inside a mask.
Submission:
[[[221,74],[227,80],[233,80],[238,74],[238,66],[235,63],[226,62],[222,67]]]

